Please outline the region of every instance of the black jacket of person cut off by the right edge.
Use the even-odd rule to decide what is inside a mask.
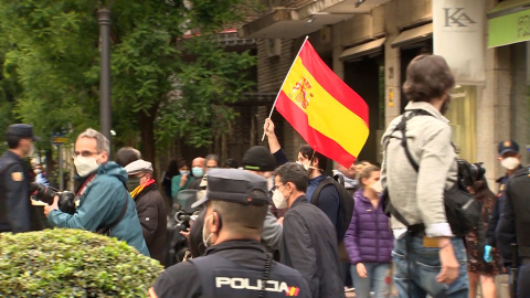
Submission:
[[[519,257],[530,258],[530,167],[513,173],[506,187],[506,203],[497,230],[502,257],[511,258],[510,243],[517,242]]]

